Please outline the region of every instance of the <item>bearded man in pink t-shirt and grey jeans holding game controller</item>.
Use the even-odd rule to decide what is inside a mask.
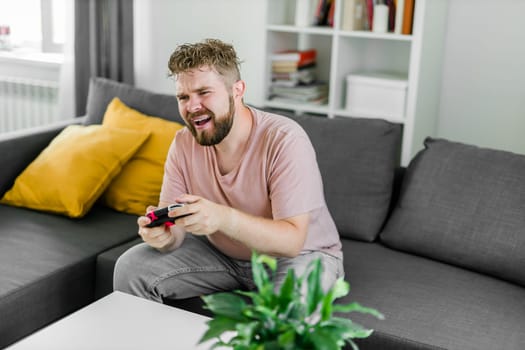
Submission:
[[[117,261],[115,289],[159,302],[252,289],[254,250],[278,258],[278,286],[320,257],[330,287],[343,274],[341,242],[304,130],[243,103],[231,45],[181,45],[169,69],[186,128],[170,147],[158,207],[184,203],[169,215],[187,216],[154,228],[138,219],[145,243]]]

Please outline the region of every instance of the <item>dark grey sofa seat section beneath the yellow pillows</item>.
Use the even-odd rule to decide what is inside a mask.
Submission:
[[[0,348],[92,302],[97,255],[137,237],[135,215],[99,205],[82,219],[0,205],[0,217]]]

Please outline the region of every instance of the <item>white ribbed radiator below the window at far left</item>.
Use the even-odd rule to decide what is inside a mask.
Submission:
[[[58,83],[0,76],[0,132],[59,120]]]

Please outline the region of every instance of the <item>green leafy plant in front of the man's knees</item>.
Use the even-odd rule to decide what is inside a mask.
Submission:
[[[357,349],[352,339],[366,338],[372,330],[333,313],[360,312],[383,319],[377,310],[356,302],[334,304],[349,293],[350,285],[340,278],[324,293],[320,259],[313,261],[301,277],[289,270],[279,291],[268,274],[269,271],[273,275],[276,268],[276,259],[253,253],[255,291],[204,296],[205,307],[214,317],[208,321],[208,330],[200,342],[214,339],[213,348],[235,350],[328,350],[341,349],[346,342]],[[301,295],[301,290],[305,290],[305,295]]]

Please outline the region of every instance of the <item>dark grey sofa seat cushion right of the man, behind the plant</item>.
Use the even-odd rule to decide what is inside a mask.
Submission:
[[[350,293],[385,315],[345,314],[374,329],[359,349],[525,349],[525,289],[386,248],[343,240]]]

